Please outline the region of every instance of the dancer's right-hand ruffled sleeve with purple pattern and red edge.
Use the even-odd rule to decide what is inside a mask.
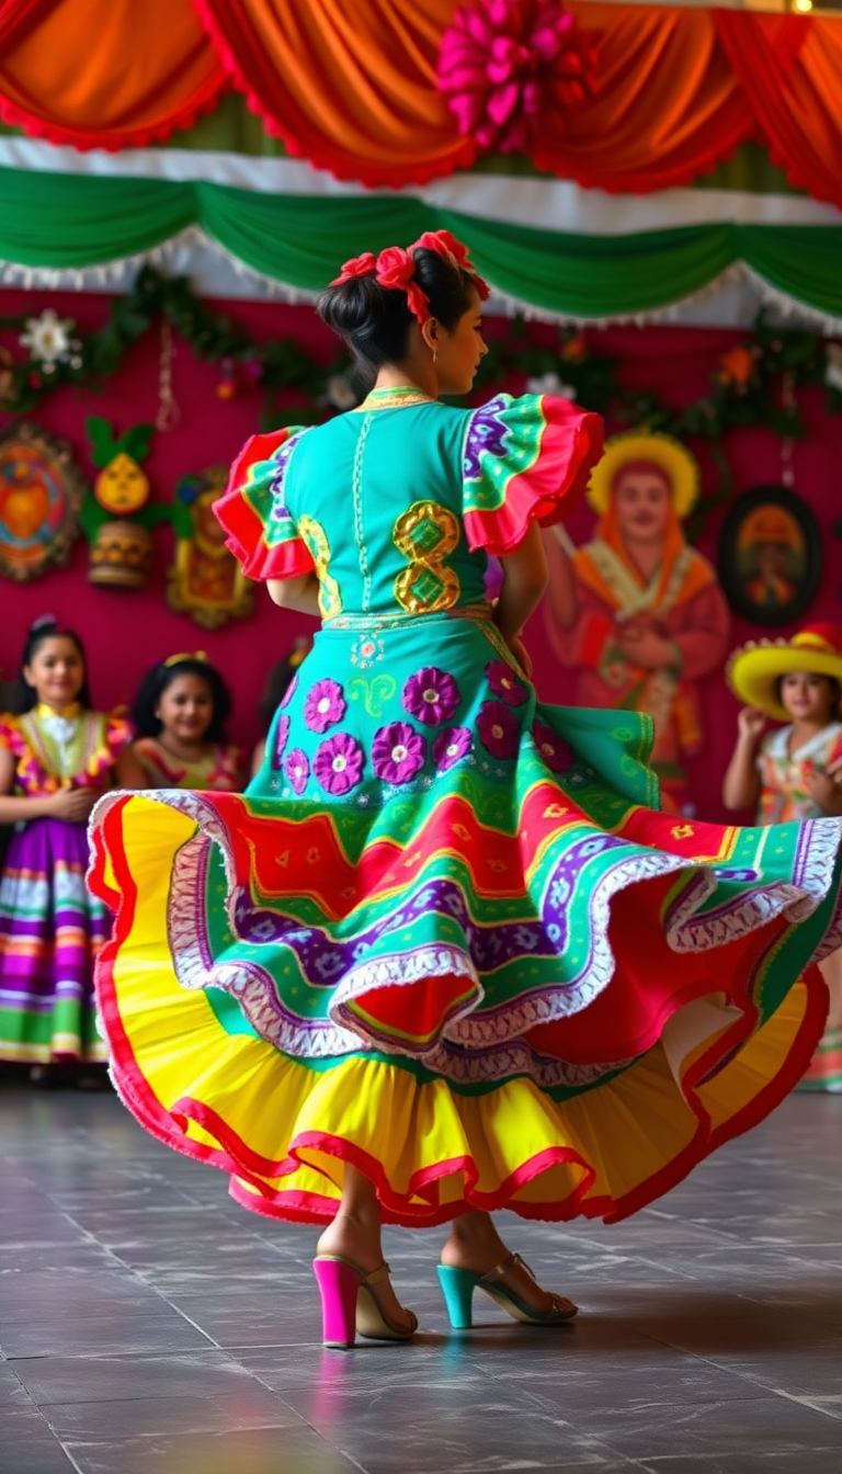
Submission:
[[[504,557],[529,522],[560,522],[602,455],[602,419],[568,399],[498,394],[467,417],[463,520],[472,548]]]

